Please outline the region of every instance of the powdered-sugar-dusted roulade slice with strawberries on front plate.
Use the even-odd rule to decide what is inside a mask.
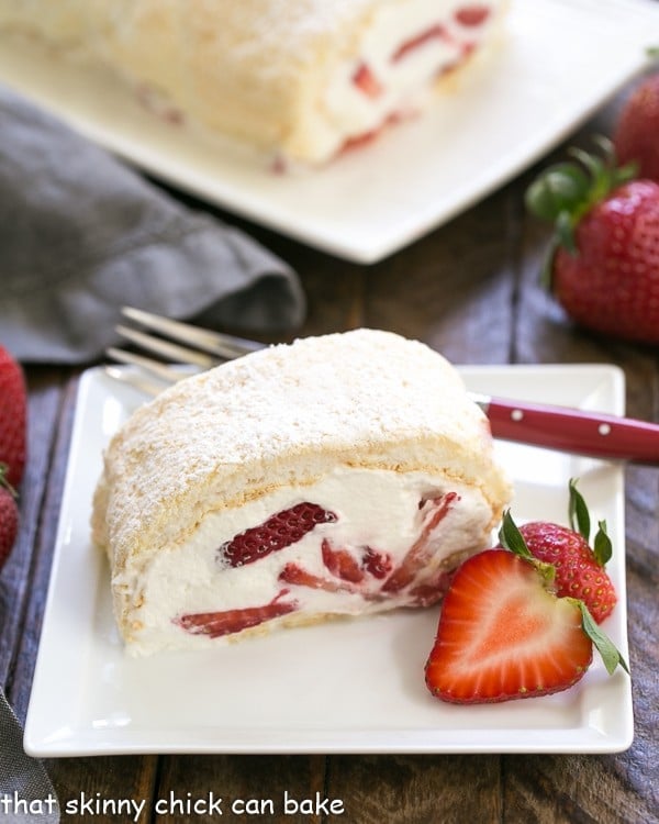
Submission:
[[[105,452],[92,528],[141,655],[435,603],[510,492],[457,370],[356,330],[256,352],[139,408]]]

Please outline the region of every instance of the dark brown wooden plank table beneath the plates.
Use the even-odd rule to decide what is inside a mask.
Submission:
[[[571,141],[608,132],[613,101]],[[568,144],[566,144],[568,145]],[[565,156],[565,146],[552,158]],[[310,303],[303,334],[379,326],[418,337],[462,364],[617,364],[630,415],[659,421],[657,349],[574,329],[538,285],[547,229],[524,212],[527,174],[424,240],[377,265],[345,263],[269,231],[246,229],[300,272]],[[231,215],[223,215],[237,222]],[[22,527],[0,578],[0,682],[25,716],[67,461],[79,371],[27,369],[30,461]],[[118,756],[46,762],[60,801],[146,799],[174,792],[230,799],[338,799],[343,815],[237,815],[223,821],[350,824],[659,821],[659,470],[626,470],[628,627],[635,739],[618,755]],[[153,810],[152,810],[153,812]],[[141,821],[215,821],[153,813]],[[0,816],[1,820],[1,816]],[[102,817],[63,815],[63,821]],[[120,821],[121,819],[105,819]]]

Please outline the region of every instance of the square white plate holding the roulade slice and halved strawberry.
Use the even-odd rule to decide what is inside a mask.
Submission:
[[[473,391],[619,414],[608,366],[467,367]],[[33,756],[127,753],[603,753],[633,737],[626,673],[599,657],[571,690],[490,706],[426,690],[438,609],[289,630],[211,652],[124,655],[104,557],[90,544],[91,495],[109,437],[138,393],[87,371],[80,381],[51,586],[25,726]],[[623,469],[498,443],[520,521],[567,515],[567,485],[605,517],[619,595],[605,628],[627,657]]]

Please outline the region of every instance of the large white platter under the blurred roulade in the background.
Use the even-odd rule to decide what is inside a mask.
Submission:
[[[325,252],[373,263],[545,154],[646,62],[650,0],[512,0],[504,42],[432,111],[313,174],[165,124],[105,74],[1,43],[0,80],[175,186]]]

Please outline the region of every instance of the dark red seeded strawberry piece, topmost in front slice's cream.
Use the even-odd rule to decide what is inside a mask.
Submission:
[[[232,567],[253,564],[304,537],[316,524],[336,521],[333,512],[327,512],[317,503],[304,501],[291,509],[282,510],[265,523],[245,530],[220,547],[220,556]]]

